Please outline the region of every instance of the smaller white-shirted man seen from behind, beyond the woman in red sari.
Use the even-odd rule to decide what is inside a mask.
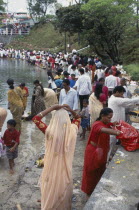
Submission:
[[[109,76],[105,78],[105,86],[109,90],[109,96],[112,95],[113,89],[117,86],[116,77],[112,75],[112,70],[109,71]]]

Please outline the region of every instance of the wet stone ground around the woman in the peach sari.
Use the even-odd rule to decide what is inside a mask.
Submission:
[[[46,120],[47,124],[50,117]],[[9,175],[7,159],[0,159],[0,210],[17,209],[17,204],[21,205],[22,210],[40,209],[37,200],[40,199],[38,180],[42,169],[34,163],[44,154],[44,134],[32,122],[23,122],[22,131],[14,175]],[[84,206],[80,185],[86,141],[79,139],[78,136],[73,161],[73,210],[83,209]]]

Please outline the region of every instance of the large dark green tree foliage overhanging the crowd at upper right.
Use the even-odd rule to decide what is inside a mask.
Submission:
[[[119,62],[125,60],[123,53],[128,51],[125,39],[133,40],[133,49],[134,37],[138,36],[137,32],[131,38],[128,31],[139,29],[138,9],[139,0],[78,0],[76,5],[57,10],[56,26],[60,32],[78,32],[96,54]]]

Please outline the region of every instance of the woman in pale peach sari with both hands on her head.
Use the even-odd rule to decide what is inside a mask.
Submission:
[[[71,210],[73,192],[72,162],[80,121],[71,123],[68,112],[77,114],[67,105],[54,105],[33,118],[33,122],[45,132],[46,152],[41,183],[42,210]],[[55,111],[47,127],[41,118]]]

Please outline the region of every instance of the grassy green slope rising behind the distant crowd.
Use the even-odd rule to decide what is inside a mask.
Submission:
[[[73,48],[80,49],[87,45],[78,44],[78,35],[67,36],[67,44],[70,43],[70,48],[67,51],[71,52]],[[29,35],[19,36],[6,47],[14,49],[26,50],[50,50],[51,52],[64,51],[65,34],[56,30],[52,23],[39,24],[35,26]]]

